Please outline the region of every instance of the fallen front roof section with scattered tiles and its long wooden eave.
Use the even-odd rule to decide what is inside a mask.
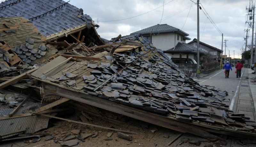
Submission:
[[[70,99],[205,138],[222,139],[211,133],[255,137],[255,121],[229,111],[226,92],[199,85],[145,38],[134,36],[108,48],[92,56],[97,61],[58,56],[27,74],[40,82],[32,87],[59,96],[58,104]]]

